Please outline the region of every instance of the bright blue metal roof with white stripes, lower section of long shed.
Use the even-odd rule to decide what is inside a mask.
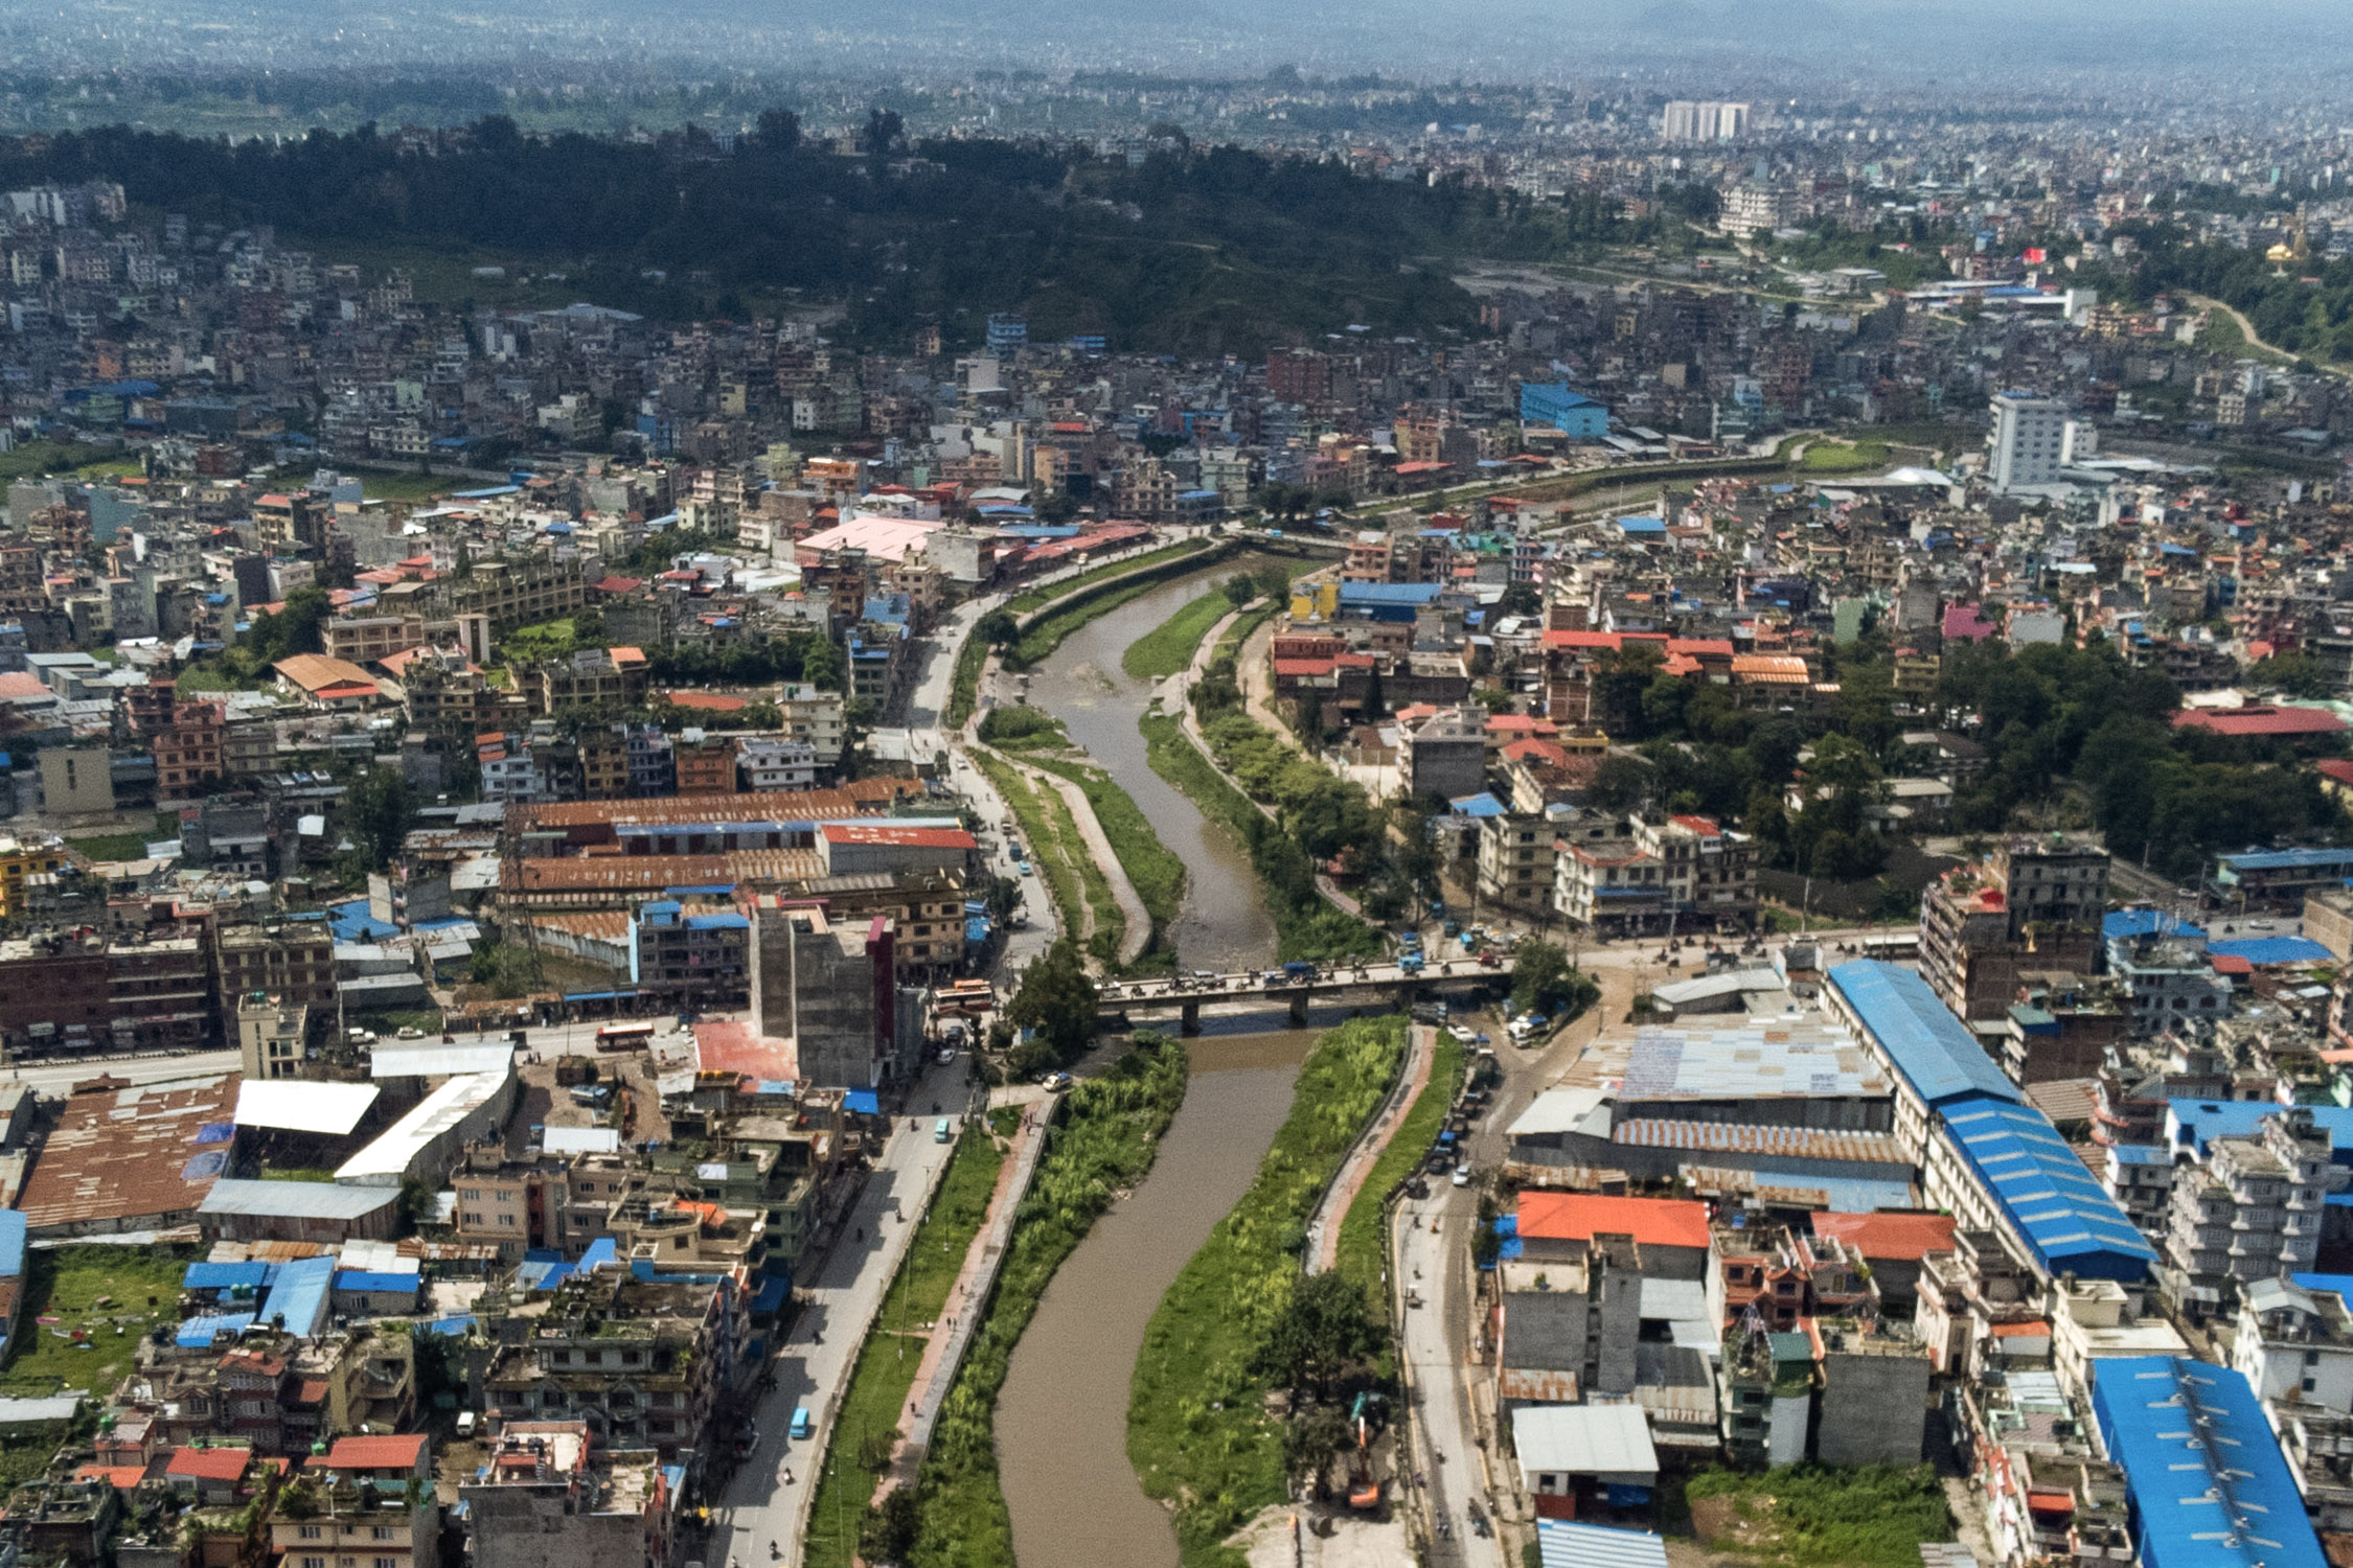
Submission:
[[[1948,1105],[1944,1133],[2045,1274],[2129,1284],[2158,1260],[2148,1239],[2035,1107],[2012,1100]]]

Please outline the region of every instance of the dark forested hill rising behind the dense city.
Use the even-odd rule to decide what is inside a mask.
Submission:
[[[1165,143],[1139,167],[1012,141],[908,146],[887,110],[861,143],[866,158],[805,146],[788,113],[732,150],[694,129],[525,136],[504,115],[435,153],[374,125],[238,146],[101,127],[7,143],[0,179],[118,179],[136,205],[273,223],[329,254],[409,242],[560,259],[586,296],[671,320],[802,289],[847,301],[854,336],[904,341],[913,320],[979,331],[1019,301],[1038,336],[1165,353],[1257,353],[1348,322],[1468,329],[1471,299],[1433,259],[1548,259],[1624,233],[1617,202],[1233,146]]]

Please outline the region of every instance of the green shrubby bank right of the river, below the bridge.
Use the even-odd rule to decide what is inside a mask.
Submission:
[[[1146,1495],[1174,1505],[1186,1568],[1235,1568],[1242,1554],[1226,1535],[1285,1497],[1282,1425],[1264,1403],[1268,1345],[1301,1281],[1306,1222],[1402,1060],[1402,1018],[1325,1032],[1249,1192],[1144,1331],[1127,1458]]]

